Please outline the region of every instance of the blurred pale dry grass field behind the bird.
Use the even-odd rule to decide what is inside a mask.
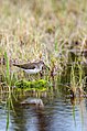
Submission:
[[[61,66],[68,48],[87,39],[87,1],[1,0],[0,57]],[[79,46],[78,44],[78,46]]]

